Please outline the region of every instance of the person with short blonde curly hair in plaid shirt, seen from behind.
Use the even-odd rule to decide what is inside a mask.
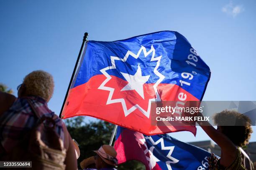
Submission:
[[[47,106],[47,102],[49,102],[54,92],[53,77],[42,70],[33,71],[26,75],[17,90],[18,98],[9,110],[0,115],[0,158],[4,154],[11,153],[12,149],[21,143],[23,136],[36,125],[39,117],[50,117],[54,120],[55,131],[63,141],[64,148],[67,151],[64,160],[66,169],[76,170],[77,159],[72,138],[64,122]],[[3,93],[0,93],[0,98],[1,95]],[[37,113],[31,108],[31,105]],[[1,152],[1,148],[3,152]]]

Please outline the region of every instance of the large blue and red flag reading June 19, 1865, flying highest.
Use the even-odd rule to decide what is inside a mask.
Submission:
[[[114,42],[88,41],[62,118],[97,117],[143,134],[195,126],[151,124],[151,102],[202,100],[210,69],[187,39],[161,31]]]

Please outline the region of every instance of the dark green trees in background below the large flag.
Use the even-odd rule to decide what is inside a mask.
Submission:
[[[67,129],[79,144],[80,157],[77,160],[78,167],[85,158],[94,156],[92,150],[97,150],[101,145],[109,144],[115,125],[99,120],[97,122],[84,123],[84,117],[77,116],[64,120]],[[131,160],[118,165],[118,170],[145,170],[145,166],[136,160]]]

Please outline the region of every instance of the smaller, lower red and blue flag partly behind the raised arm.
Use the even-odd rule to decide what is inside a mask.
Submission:
[[[118,164],[141,161],[146,170],[207,170],[211,153],[167,134],[146,136],[118,127],[114,148]]]

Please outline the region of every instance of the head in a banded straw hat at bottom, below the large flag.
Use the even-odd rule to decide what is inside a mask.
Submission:
[[[95,150],[97,155],[95,156],[95,165],[97,169],[100,168],[111,168],[118,164],[116,159],[116,151],[113,146],[102,145],[99,150]]]

